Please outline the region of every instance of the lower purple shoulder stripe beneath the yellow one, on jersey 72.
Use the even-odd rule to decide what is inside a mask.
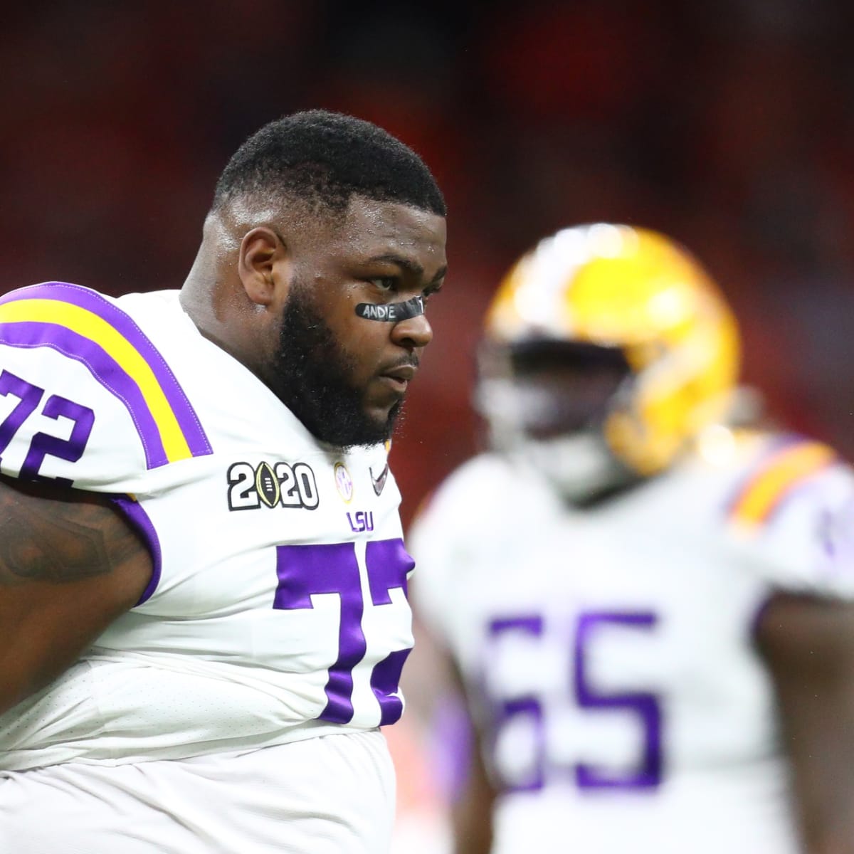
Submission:
[[[146,467],[154,469],[167,464],[169,460],[160,430],[143,393],[125,369],[99,344],[65,326],[29,321],[0,324],[0,342],[12,347],[49,347],[82,362],[105,389],[125,404],[143,443]]]

